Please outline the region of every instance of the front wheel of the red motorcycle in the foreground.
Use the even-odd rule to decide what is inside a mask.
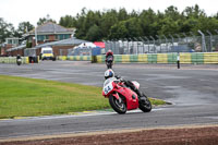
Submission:
[[[126,106],[121,98],[117,99],[113,95],[110,95],[109,104],[116,112],[120,114],[126,112]]]

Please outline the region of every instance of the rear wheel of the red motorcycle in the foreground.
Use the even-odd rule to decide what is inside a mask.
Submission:
[[[149,112],[153,109],[152,102],[149,101],[148,97],[145,94],[143,94],[143,96],[141,97],[138,108],[144,112]]]

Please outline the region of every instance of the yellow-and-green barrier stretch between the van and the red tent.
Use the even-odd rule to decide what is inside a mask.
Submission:
[[[90,56],[58,56],[58,60],[90,61]]]

